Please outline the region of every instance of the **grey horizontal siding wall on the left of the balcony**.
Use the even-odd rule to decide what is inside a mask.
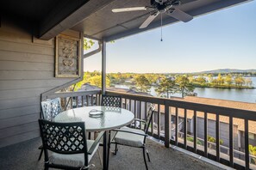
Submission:
[[[54,77],[53,39],[33,39],[18,27],[1,24],[0,148],[39,137],[41,94],[74,80]]]

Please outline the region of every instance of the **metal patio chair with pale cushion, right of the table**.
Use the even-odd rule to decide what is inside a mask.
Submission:
[[[114,155],[116,155],[118,144],[140,148],[143,150],[143,158],[144,158],[145,166],[147,168],[145,152],[147,152],[148,161],[150,161],[150,158],[149,158],[148,150],[146,148],[146,139],[147,139],[147,131],[148,131],[149,125],[152,122],[154,109],[155,107],[151,104],[151,106],[147,111],[146,120],[141,120],[137,118],[134,119],[134,128],[137,128],[136,122],[140,122],[140,124],[144,124],[143,126],[142,125],[139,126],[140,129],[134,129],[134,128],[129,128],[125,126],[118,130],[112,130],[112,131],[116,131],[115,136],[111,140],[111,143],[116,144]]]

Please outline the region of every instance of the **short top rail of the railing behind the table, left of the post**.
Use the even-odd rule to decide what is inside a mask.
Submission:
[[[47,95],[48,99],[53,98],[65,98],[65,97],[77,97],[82,95],[101,94],[101,90],[89,90],[89,91],[78,91],[78,92],[56,92],[54,94]]]

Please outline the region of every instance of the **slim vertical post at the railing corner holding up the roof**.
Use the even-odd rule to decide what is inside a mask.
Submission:
[[[106,41],[103,39],[102,51],[102,94],[106,93]]]

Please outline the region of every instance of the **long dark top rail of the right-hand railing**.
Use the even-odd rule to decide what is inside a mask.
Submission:
[[[184,100],[175,99],[175,98],[165,99],[165,98],[159,98],[159,97],[153,97],[153,96],[147,96],[147,95],[141,95],[141,94],[126,94],[126,93],[120,93],[115,91],[107,91],[106,94],[121,95],[122,97],[131,99],[131,100],[146,101],[146,102],[151,102],[159,105],[173,106],[178,108],[184,108],[187,110],[195,110],[198,112],[208,112],[208,113],[214,113],[222,116],[244,118],[244,119],[256,121],[256,111],[252,111],[252,110],[244,110],[244,109],[231,108],[231,107],[225,107],[225,106],[214,106],[210,104],[207,105],[207,104],[195,103],[191,101],[184,101]]]

